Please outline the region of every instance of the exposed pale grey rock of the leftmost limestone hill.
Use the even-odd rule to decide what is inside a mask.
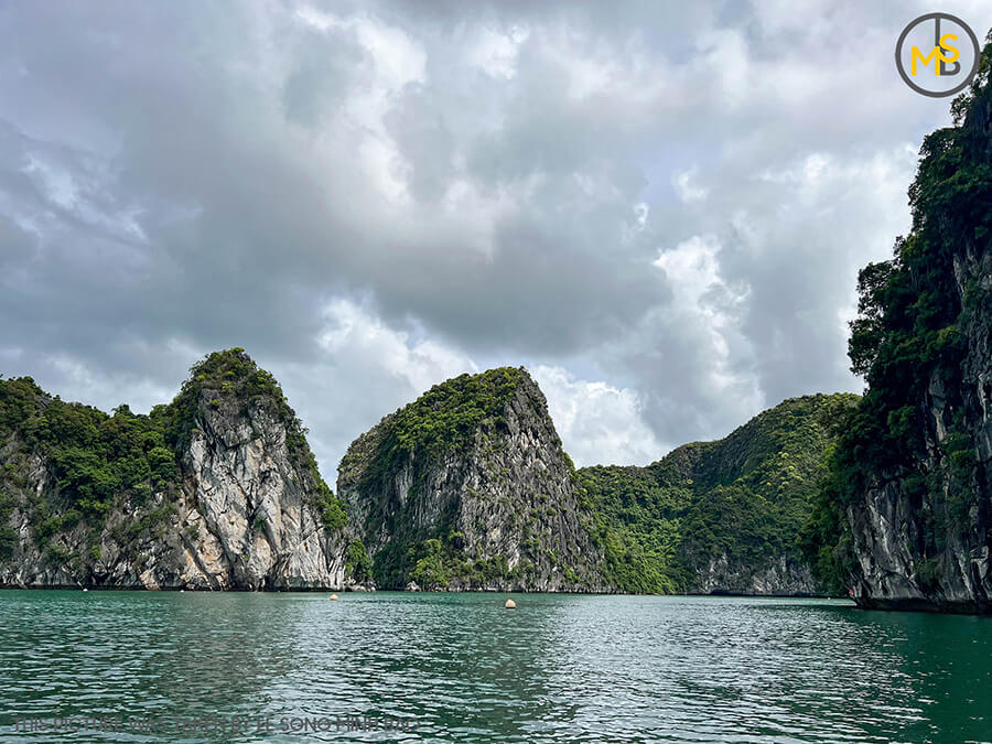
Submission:
[[[56,514],[71,505],[41,452],[24,466],[25,448],[14,435],[0,465],[20,463],[21,485],[7,488],[18,544],[0,562],[0,585],[346,587],[347,535],[322,520],[326,494],[309,449],[294,453],[288,445],[295,422],[268,395],[246,399],[211,385],[196,391],[193,416],[177,482],[144,499],[122,494],[96,535],[84,519],[39,538],[37,504]]]

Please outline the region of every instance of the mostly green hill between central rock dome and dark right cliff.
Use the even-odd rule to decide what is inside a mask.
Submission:
[[[579,471],[606,575],[634,592],[824,593],[799,551],[800,530],[824,470],[827,422],[856,400],[789,399],[647,467]]]

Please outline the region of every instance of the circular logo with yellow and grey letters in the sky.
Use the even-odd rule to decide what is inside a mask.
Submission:
[[[978,37],[964,21],[950,13],[927,13],[899,34],[896,68],[916,93],[944,98],[971,83],[979,54]]]

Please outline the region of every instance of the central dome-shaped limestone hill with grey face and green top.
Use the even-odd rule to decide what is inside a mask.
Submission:
[[[606,591],[593,516],[522,369],[435,386],[359,436],[337,481],[380,587]]]

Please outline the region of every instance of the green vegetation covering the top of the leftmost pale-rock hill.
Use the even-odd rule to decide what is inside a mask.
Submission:
[[[291,459],[312,478],[304,487],[319,494],[315,506],[324,525],[347,525],[345,505],[321,478],[306,431],[282,389],[244,349],[207,355],[191,368],[175,399],[148,416],[127,406],[107,414],[48,396],[30,377],[0,378],[0,559],[10,557],[19,539],[9,524],[14,494],[25,504],[39,548],[76,568],[99,560],[99,539],[111,511],[131,516],[127,526],[115,528],[114,537],[121,541],[161,529],[175,511],[182,488],[179,457],[196,427],[206,425],[212,416],[250,410],[266,411],[283,424]],[[54,487],[26,488],[25,474],[35,461],[43,463]],[[65,549],[56,538],[77,529],[88,535],[88,547],[79,554],[62,554]]]

